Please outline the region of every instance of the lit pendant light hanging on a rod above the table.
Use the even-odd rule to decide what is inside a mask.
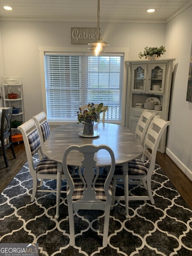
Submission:
[[[96,40],[93,41],[93,43],[90,43],[89,51],[94,52],[95,56],[99,56],[99,53],[104,51],[105,46],[109,45],[105,41],[102,40],[101,37],[101,29],[99,27],[99,15],[100,15],[100,0],[98,0],[98,6],[97,6],[97,34],[96,34]]]

